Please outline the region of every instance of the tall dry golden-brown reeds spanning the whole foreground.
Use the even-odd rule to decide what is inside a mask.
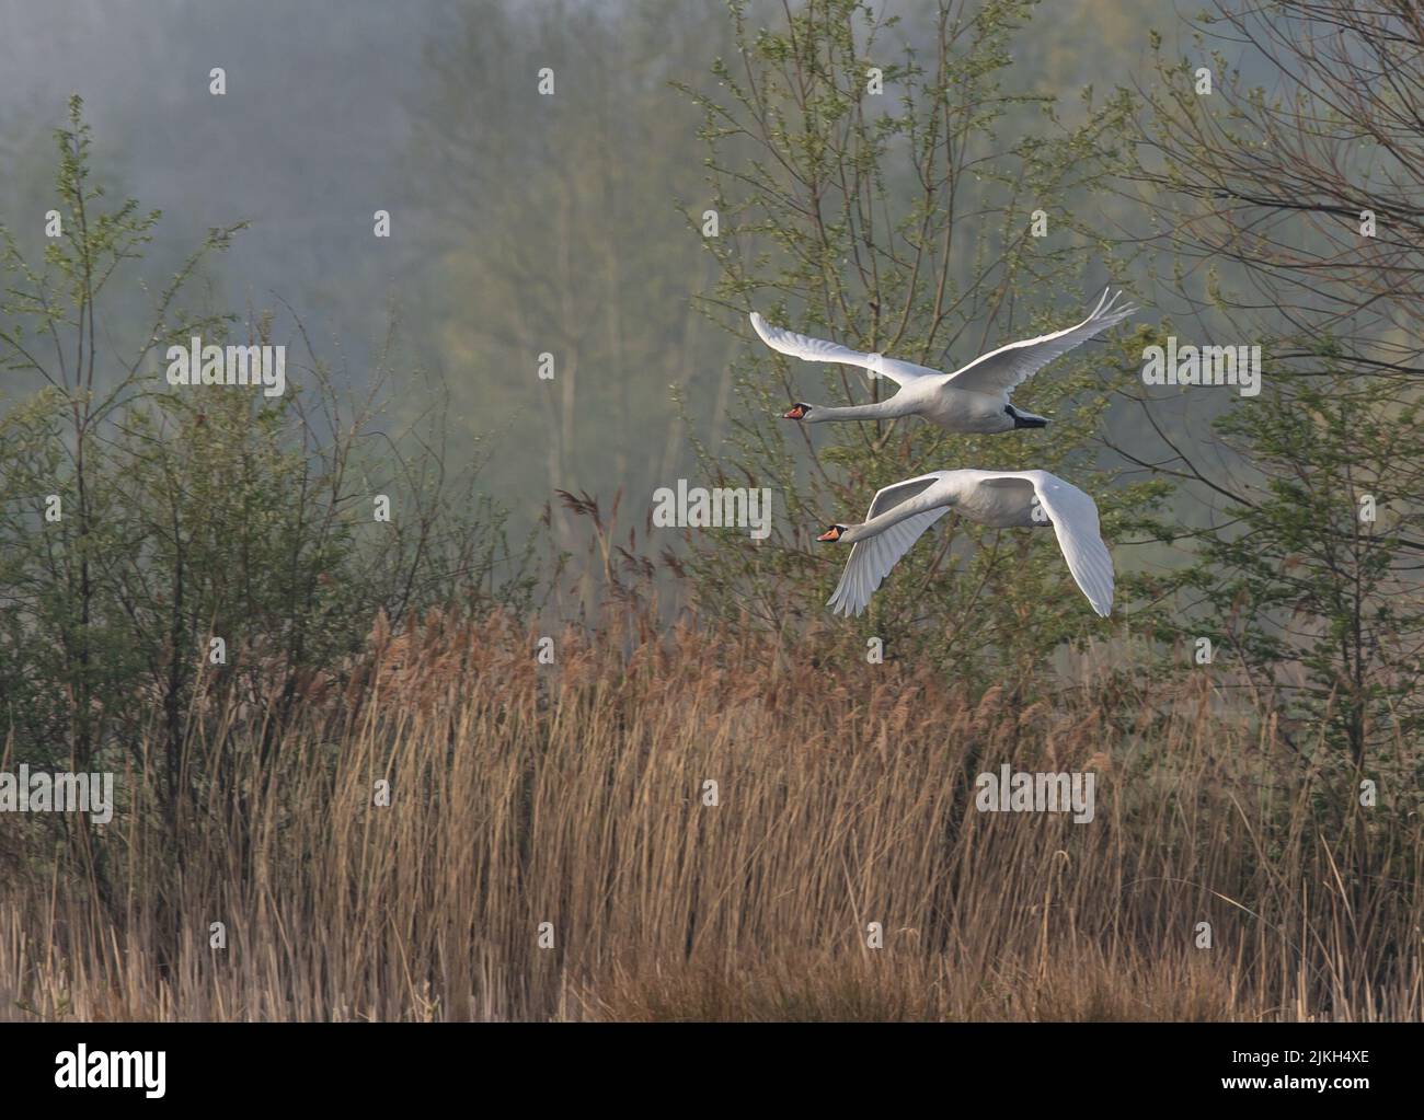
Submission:
[[[219,714],[181,813],[120,776],[107,901],[43,823],[4,821],[0,1015],[1424,1009],[1418,814],[1361,810],[1354,776],[1220,716],[1205,675],[1024,706],[756,636],[570,632],[554,666],[534,642],[498,618],[377,632],[266,761],[261,729]],[[1094,770],[1096,820],[977,813],[974,776],[1005,761]]]

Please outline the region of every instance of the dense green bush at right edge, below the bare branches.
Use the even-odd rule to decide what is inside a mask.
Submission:
[[[1329,361],[1329,359],[1323,359]],[[1236,666],[1326,746],[1401,761],[1424,731],[1417,407],[1343,373],[1267,383],[1218,423],[1260,485],[1239,487],[1182,583]],[[1183,628],[1183,629],[1189,629]]]

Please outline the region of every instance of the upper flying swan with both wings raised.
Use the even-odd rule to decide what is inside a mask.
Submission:
[[[779,353],[806,361],[860,366],[870,370],[871,376],[889,377],[900,386],[899,393],[876,404],[832,408],[797,401],[785,414],[786,420],[820,424],[827,420],[890,420],[913,414],[933,420],[950,431],[988,434],[1011,428],[1041,428],[1048,423],[1041,416],[1018,411],[1010,404],[1008,394],[1055,357],[1134,315],[1138,309],[1131,303],[1118,306],[1121,295],[1118,292],[1109,300],[1105,289],[1092,315],[1078,326],[1001,346],[956,373],[941,373],[883,354],[863,354],[839,343],[782,330],[756,312],[752,312],[752,326],[762,342]]]

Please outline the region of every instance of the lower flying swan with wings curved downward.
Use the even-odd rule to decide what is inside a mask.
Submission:
[[[1048,471],[931,471],[879,491],[860,525],[832,525],[816,538],[853,545],[826,602],[832,613],[864,611],[880,581],[950,509],[994,528],[1052,525],[1092,609],[1104,618],[1112,611],[1112,556],[1098,532],[1098,507],[1078,487]]]

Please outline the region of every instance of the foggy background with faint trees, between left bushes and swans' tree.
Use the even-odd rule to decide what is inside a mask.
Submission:
[[[894,36],[921,41],[924,7],[889,6],[906,17]],[[1131,81],[1148,11],[1171,28],[1138,0],[1041,7],[1015,80],[1071,117],[1079,87]],[[208,228],[249,221],[206,265],[206,310],[273,309],[289,360],[295,313],[339,384],[363,384],[393,339],[402,407],[444,379],[451,454],[487,458],[514,524],[555,488],[622,488],[641,508],[692,468],[675,393],[715,447],[743,344],[689,303],[713,272],[676,205],[703,209],[705,152],[669,87],[706,87],[731,41],[706,0],[0,0],[0,221],[41,248],[50,132],[78,93],[95,178],[164,212],[137,270],[151,285]],[[377,209],[389,239],[372,235]],[[1064,293],[1065,315],[1095,295]],[[110,316],[117,353],[131,324]],[[535,376],[545,350],[553,383]]]

